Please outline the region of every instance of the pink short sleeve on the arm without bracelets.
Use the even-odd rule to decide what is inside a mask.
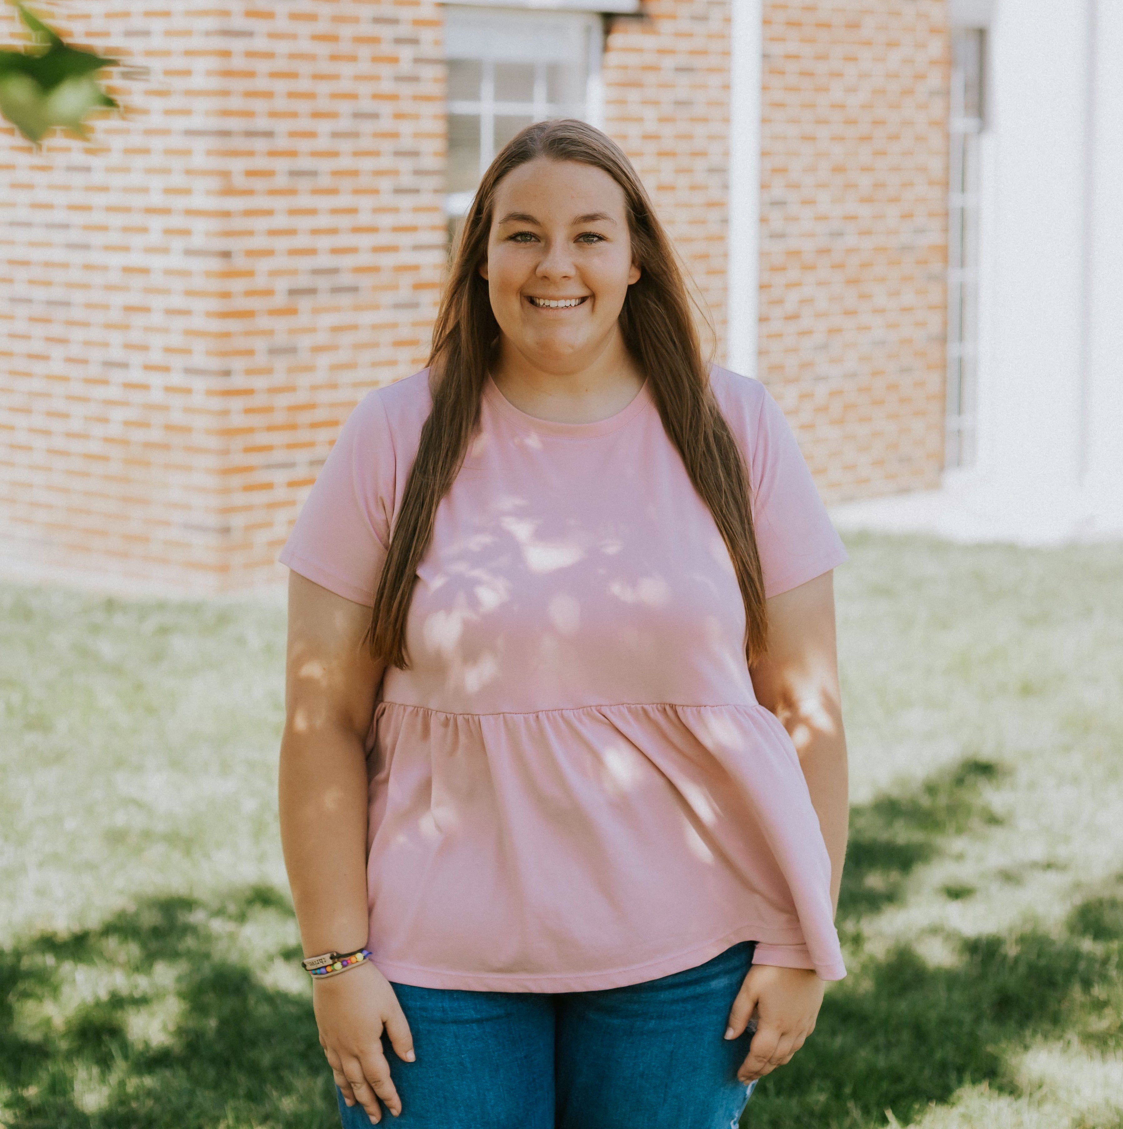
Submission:
[[[761,393],[749,443],[749,478],[765,598],[769,598],[848,558],[780,404],[766,388]]]

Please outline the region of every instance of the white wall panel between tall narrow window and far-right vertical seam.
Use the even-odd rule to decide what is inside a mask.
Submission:
[[[980,462],[1019,507],[1060,499],[1079,478],[1086,2],[1000,2],[991,26],[985,196],[996,215]]]

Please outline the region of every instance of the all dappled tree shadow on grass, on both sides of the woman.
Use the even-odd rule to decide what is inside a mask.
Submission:
[[[993,821],[985,794],[999,776],[967,761],[855,809],[847,919],[903,898],[948,834]],[[815,1036],[760,1085],[745,1126],[873,1129],[886,1109],[907,1124],[966,1084],[1012,1088],[1008,1056],[1035,1035],[1123,1045],[1117,894],[1097,891],[1055,935],[952,939],[941,965],[909,946],[883,959],[855,947]],[[272,982],[275,959],[299,956],[294,938],[288,898],[259,886],[150,899],[0,953],[0,1123],[338,1129],[307,986]]]

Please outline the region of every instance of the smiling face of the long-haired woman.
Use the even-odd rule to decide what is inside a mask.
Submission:
[[[587,367],[616,340],[639,278],[624,191],[592,165],[520,165],[496,186],[480,274],[504,348],[550,373]]]

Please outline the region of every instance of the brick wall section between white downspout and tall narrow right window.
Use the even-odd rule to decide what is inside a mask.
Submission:
[[[943,460],[944,0],[766,0],[760,377],[828,501]]]

